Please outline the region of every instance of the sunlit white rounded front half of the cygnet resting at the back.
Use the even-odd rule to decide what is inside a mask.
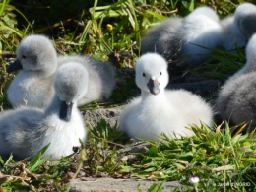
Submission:
[[[196,8],[184,20],[177,38],[183,40],[178,65],[197,66],[209,58],[208,48],[220,45],[222,27],[216,12],[207,6]],[[203,46],[203,47],[200,47]]]

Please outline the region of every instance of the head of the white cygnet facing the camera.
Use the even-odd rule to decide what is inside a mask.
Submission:
[[[158,95],[169,81],[167,63],[157,53],[142,55],[135,66],[136,84],[144,92]]]

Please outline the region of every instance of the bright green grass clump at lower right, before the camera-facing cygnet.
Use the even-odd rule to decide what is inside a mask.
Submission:
[[[222,129],[224,126],[224,129]],[[216,183],[250,183],[256,186],[255,176],[255,135],[241,135],[243,127],[229,128],[227,123],[215,131],[202,125],[192,127],[196,137],[170,140],[163,135],[160,143],[151,144],[149,152],[143,155],[140,164],[134,165],[136,172],[131,176],[157,179],[179,180],[186,185],[189,178],[198,176],[198,188],[219,191],[223,186]],[[234,131],[240,129],[237,133]],[[231,136],[233,135],[233,136]],[[216,184],[216,186],[214,186]],[[228,190],[247,191],[243,187],[226,187]]]

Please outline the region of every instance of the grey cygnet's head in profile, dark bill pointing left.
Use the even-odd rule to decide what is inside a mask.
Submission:
[[[17,60],[9,66],[7,72],[24,69],[49,73],[50,76],[56,71],[56,68],[57,53],[50,39],[43,35],[32,34],[19,44]]]

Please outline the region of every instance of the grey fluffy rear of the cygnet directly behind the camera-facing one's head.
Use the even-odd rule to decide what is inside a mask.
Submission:
[[[152,27],[142,38],[142,54],[157,52],[166,60],[174,58],[182,44],[182,41],[176,38],[182,20],[180,17],[172,17]]]

